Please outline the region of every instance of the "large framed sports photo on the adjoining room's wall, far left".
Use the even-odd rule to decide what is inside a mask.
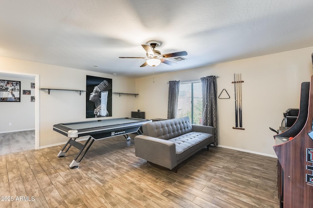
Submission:
[[[21,102],[21,82],[0,79],[0,102]]]

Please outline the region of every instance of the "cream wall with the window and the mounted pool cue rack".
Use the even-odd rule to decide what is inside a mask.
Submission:
[[[312,75],[311,54],[313,47],[283,53],[236,60],[179,72],[136,79],[135,100],[138,109],[146,112],[146,118],[166,118],[168,84],[170,80],[194,80],[203,76],[220,76],[218,95],[226,89],[230,99],[218,99],[219,145],[275,155],[274,132],[283,119],[283,112],[299,108],[300,85],[310,81]],[[178,64],[183,64],[183,61]],[[243,128],[234,130],[235,101],[234,73],[241,73],[243,104]]]

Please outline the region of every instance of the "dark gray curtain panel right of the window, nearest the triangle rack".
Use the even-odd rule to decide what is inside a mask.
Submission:
[[[201,77],[202,85],[202,125],[215,128],[214,146],[218,145],[217,136],[217,83],[216,76]]]

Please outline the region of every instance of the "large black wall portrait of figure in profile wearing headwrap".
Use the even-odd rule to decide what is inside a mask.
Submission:
[[[112,79],[86,78],[86,118],[112,116]]]

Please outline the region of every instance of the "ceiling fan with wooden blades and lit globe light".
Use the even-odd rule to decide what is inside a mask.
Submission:
[[[160,42],[152,40],[147,42],[147,44],[142,44],[141,46],[143,49],[147,52],[147,57],[119,57],[119,58],[144,58],[147,59],[146,62],[144,62],[140,67],[144,66],[158,66],[161,62],[168,64],[168,65],[175,65],[176,62],[166,60],[164,58],[169,58],[169,57],[179,57],[179,56],[186,56],[187,52],[185,51],[180,51],[176,53],[171,53],[171,54],[161,54],[161,52],[155,50],[157,46],[160,45]]]

